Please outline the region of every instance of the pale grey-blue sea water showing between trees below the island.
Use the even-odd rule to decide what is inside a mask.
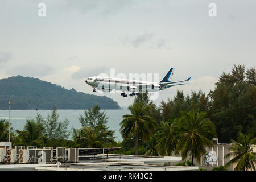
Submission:
[[[103,111],[103,110],[102,110]],[[119,123],[122,121],[122,115],[129,114],[130,111],[127,110],[127,107],[118,110],[104,110],[106,117],[109,117],[107,126],[110,130],[115,130],[115,140],[122,141],[121,134],[119,133]],[[51,114],[51,110],[11,110],[11,127],[14,130],[22,130],[26,119],[35,119],[36,114],[39,113],[43,116],[44,119],[47,118],[48,114]],[[72,127],[75,129],[81,128],[79,122],[79,116],[84,115],[84,110],[57,110],[59,114],[59,120],[63,122],[67,118],[69,122],[68,129],[71,130]],[[9,119],[9,110],[0,110],[0,118]],[[72,135],[70,135],[71,138]]]

